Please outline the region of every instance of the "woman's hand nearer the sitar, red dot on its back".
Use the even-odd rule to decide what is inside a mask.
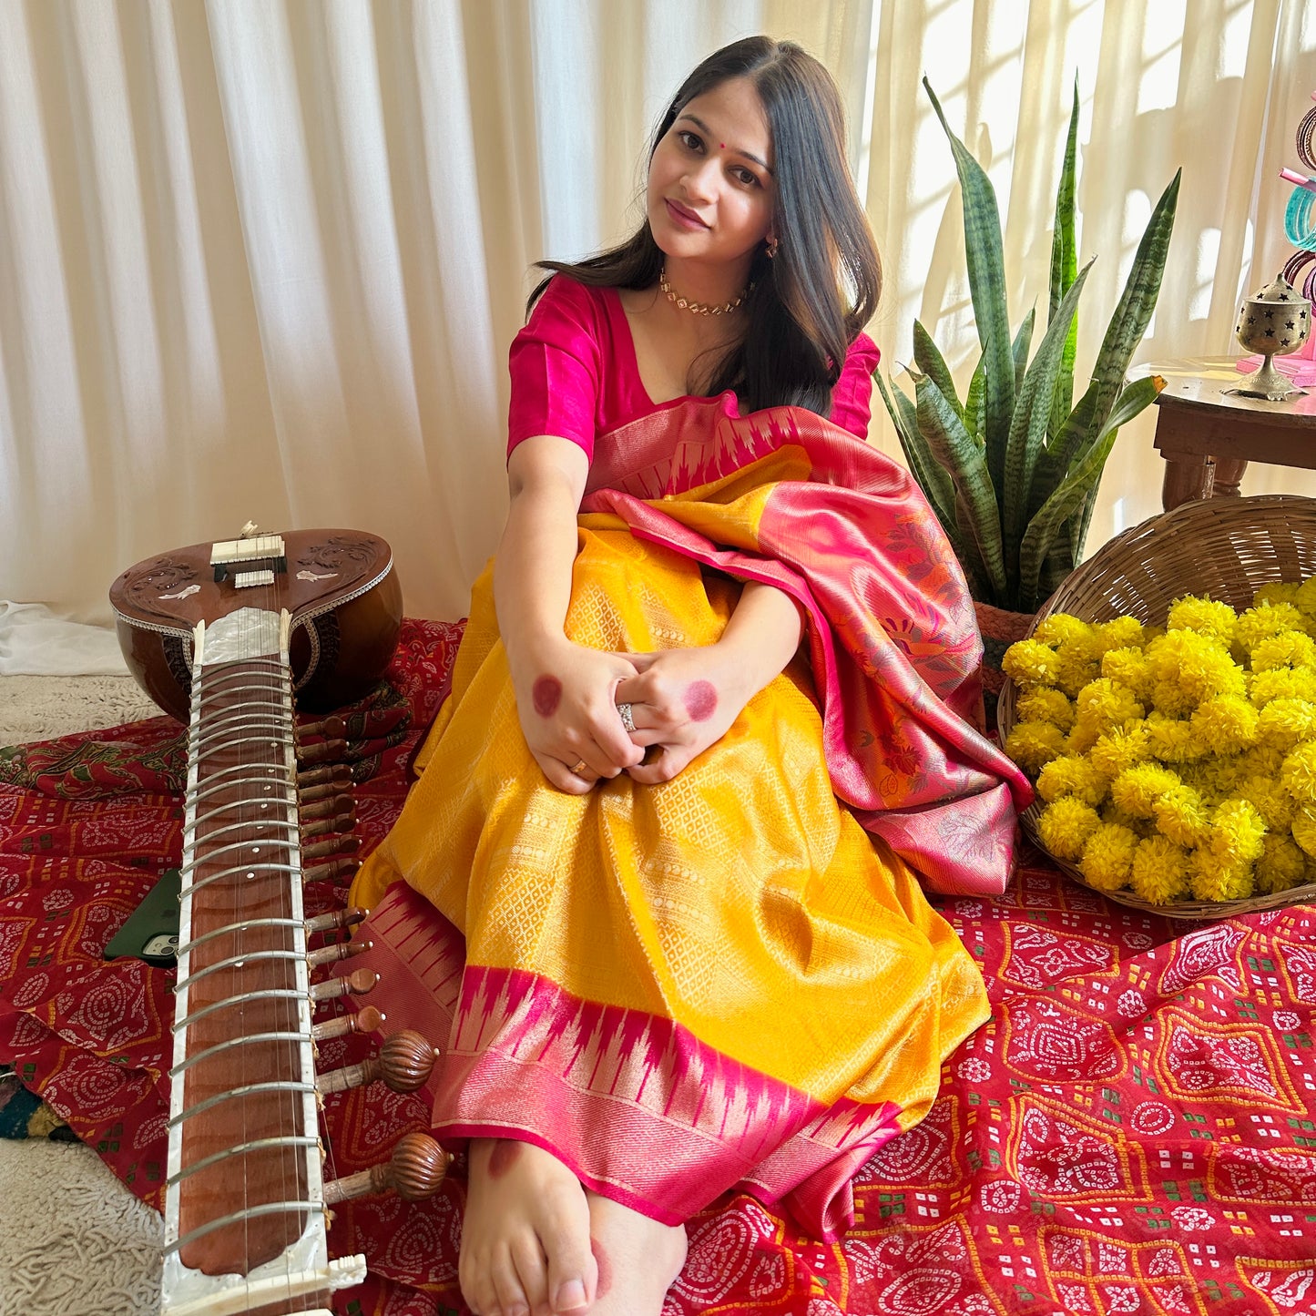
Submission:
[[[512,679],[521,730],[534,761],[559,791],[584,795],[600,778],[613,778],[644,759],[617,715],[619,683],[634,678],[637,670],[629,658],[562,637],[536,646],[517,666]]]

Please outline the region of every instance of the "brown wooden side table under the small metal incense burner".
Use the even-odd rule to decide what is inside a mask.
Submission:
[[[1155,447],[1165,458],[1165,511],[1199,497],[1237,497],[1249,462],[1316,470],[1316,388],[1283,403],[1225,396],[1242,375],[1234,357],[1153,361],[1162,375]]]

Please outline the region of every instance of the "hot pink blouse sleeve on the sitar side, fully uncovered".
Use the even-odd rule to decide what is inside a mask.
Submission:
[[[507,451],[536,434],[557,434],[594,457],[603,374],[599,307],[584,284],[555,275],[512,340]]]

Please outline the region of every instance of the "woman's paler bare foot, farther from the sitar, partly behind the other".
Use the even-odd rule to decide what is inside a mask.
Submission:
[[[599,1288],[590,1316],[661,1316],[686,1263],[686,1230],[586,1191]]]

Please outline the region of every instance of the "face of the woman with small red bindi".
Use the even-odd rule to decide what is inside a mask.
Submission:
[[[747,78],[688,101],[649,162],[649,226],[670,257],[733,263],[772,224],[772,134]]]

